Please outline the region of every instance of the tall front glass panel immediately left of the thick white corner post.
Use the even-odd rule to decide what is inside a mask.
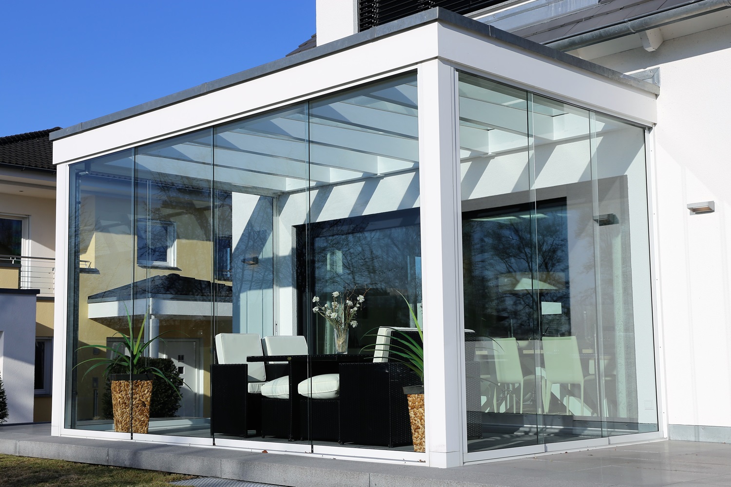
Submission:
[[[393,356],[377,362],[374,344],[386,332],[379,327],[414,329],[409,306],[421,313],[416,77],[312,101],[309,120],[311,223],[306,239],[300,229],[298,261],[311,294],[301,323],[313,387],[315,374],[338,372],[341,413],[338,434],[333,402],[311,399],[307,435],[413,450],[406,396],[400,388],[392,396],[390,386],[420,379]]]

